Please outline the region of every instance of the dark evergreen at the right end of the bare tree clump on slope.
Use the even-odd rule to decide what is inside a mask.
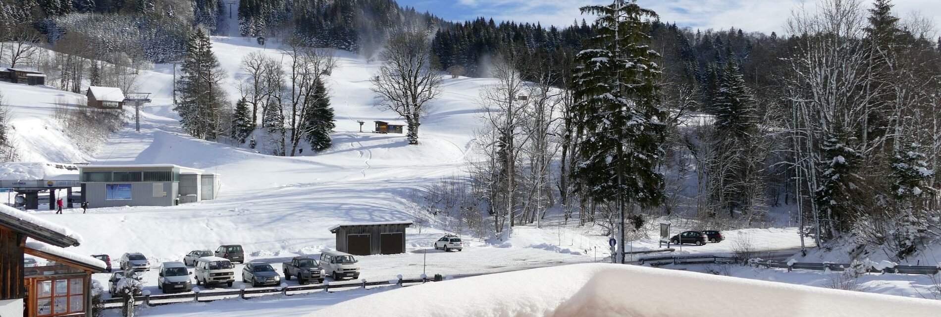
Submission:
[[[336,127],[333,123],[333,107],[327,96],[324,82],[316,80],[313,87],[313,103],[308,105],[304,115],[304,139],[311,144],[311,150],[324,151],[333,145],[330,132]]]

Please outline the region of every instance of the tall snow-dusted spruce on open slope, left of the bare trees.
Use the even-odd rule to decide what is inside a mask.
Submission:
[[[226,109],[225,92],[219,87],[225,71],[212,51],[209,36],[197,29],[186,46],[181,66],[183,75],[177,82],[180,92],[174,110],[190,135],[215,140],[221,133],[221,112]]]

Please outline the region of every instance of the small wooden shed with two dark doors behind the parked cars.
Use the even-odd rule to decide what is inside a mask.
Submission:
[[[411,221],[342,224],[330,228],[337,236],[337,250],[353,255],[406,252],[406,228]]]

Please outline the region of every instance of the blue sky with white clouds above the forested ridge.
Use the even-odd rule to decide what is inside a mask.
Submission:
[[[397,0],[399,5],[430,11],[447,20],[463,21],[478,16],[494,20],[568,25],[582,19],[579,8],[610,0]],[[813,8],[813,0],[639,0],[656,10],[662,21],[694,28],[728,28],[781,32],[790,12],[802,3]],[[869,3],[868,0],[864,1]],[[912,12],[941,23],[941,0],[895,0],[896,15]],[[867,8],[869,5],[867,4]],[[590,19],[590,17],[584,17]]]

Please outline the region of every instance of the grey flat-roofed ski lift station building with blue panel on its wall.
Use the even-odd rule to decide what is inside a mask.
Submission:
[[[219,175],[165,165],[79,166],[88,207],[174,206],[215,199]]]

